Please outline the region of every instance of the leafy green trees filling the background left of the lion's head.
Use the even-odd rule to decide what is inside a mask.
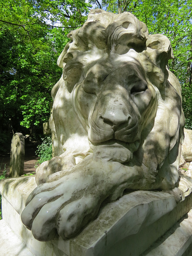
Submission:
[[[50,115],[57,58],[82,26],[84,0],[0,0],[0,132],[32,134]]]

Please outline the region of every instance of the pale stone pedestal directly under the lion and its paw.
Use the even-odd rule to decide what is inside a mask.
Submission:
[[[0,182],[3,219],[36,256],[190,255],[191,194],[176,203],[174,196],[165,192],[131,192],[103,204],[98,217],[76,238],[56,237],[49,242],[39,242],[20,220],[26,198],[35,187],[35,176]],[[188,216],[184,216],[186,213]],[[170,246],[175,249],[170,250]]]

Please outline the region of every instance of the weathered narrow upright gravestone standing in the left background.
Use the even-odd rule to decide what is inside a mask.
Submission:
[[[24,173],[25,139],[16,132],[11,141],[10,177],[19,177]]]

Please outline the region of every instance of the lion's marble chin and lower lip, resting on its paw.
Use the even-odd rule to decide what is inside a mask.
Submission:
[[[96,158],[125,163],[132,160],[133,152],[138,149],[139,143],[138,140],[131,143],[120,140],[108,140],[100,144],[92,144],[91,148]]]

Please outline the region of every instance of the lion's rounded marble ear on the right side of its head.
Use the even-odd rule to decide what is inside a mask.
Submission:
[[[148,58],[164,71],[168,60],[174,59],[169,39],[161,34],[150,35],[146,45]]]

